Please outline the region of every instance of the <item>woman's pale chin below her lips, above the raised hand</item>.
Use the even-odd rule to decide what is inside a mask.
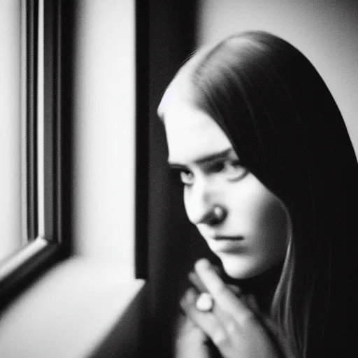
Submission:
[[[222,267],[231,278],[244,280],[252,278],[268,270],[268,265],[255,262],[252,258],[244,259],[234,255],[220,255]]]

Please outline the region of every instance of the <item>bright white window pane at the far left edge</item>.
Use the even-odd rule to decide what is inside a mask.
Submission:
[[[20,0],[0,0],[0,260],[20,246]]]

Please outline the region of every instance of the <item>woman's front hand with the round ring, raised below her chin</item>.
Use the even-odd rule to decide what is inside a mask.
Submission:
[[[215,301],[212,312],[196,309],[198,294],[187,289],[182,310],[208,336],[224,358],[278,358],[275,343],[243,299],[222,281],[206,259],[196,262],[195,271]]]

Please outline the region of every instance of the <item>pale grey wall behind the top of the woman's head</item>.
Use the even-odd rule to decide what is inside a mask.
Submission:
[[[198,43],[261,29],[295,45],[327,83],[358,153],[358,2],[201,0]]]

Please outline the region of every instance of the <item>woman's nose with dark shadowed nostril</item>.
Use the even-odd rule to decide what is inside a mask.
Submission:
[[[187,217],[193,224],[208,224],[214,226],[222,223],[227,217],[220,193],[209,182],[196,181],[187,189],[184,195]]]

